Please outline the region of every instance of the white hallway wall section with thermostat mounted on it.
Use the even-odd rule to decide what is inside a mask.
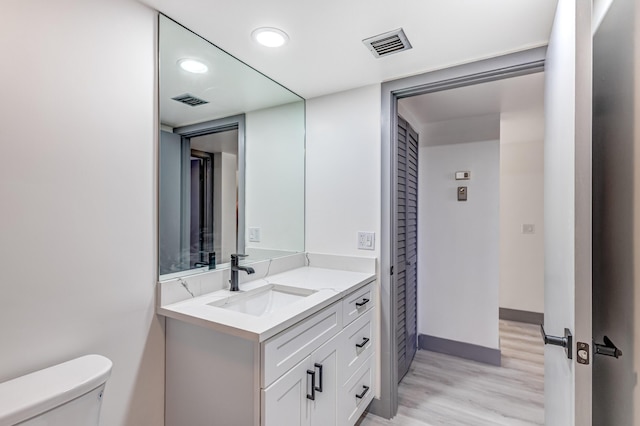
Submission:
[[[499,141],[419,149],[418,333],[499,348]],[[456,181],[456,171],[471,180]],[[457,187],[468,201],[457,201]]]

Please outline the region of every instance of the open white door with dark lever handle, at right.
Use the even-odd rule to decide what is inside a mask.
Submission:
[[[545,424],[591,425],[591,0],[559,0],[545,63]],[[579,342],[589,345],[576,353]]]

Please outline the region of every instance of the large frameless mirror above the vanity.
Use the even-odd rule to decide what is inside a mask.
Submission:
[[[304,100],[159,19],[160,279],[304,251]]]

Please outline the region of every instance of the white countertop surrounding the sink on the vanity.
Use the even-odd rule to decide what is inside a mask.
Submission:
[[[229,290],[219,290],[160,306],[158,314],[244,339],[262,342],[329,306],[374,278],[374,274],[365,272],[302,267],[240,284],[241,291],[253,290],[268,284],[315,290],[315,293],[272,314],[252,316],[208,305],[238,294]]]

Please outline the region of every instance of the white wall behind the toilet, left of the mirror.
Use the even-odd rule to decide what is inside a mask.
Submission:
[[[163,424],[156,20],[133,0],[0,14],[0,381],[103,354],[109,426]]]

